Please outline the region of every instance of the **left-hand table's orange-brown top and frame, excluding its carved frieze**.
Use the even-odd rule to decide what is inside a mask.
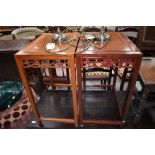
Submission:
[[[34,41],[32,41],[28,46],[26,46],[24,49],[22,49],[21,51],[19,51],[18,53],[15,54],[15,59],[16,59],[16,63],[21,75],[21,78],[23,80],[23,84],[25,86],[25,89],[28,93],[30,102],[32,104],[32,109],[33,112],[35,114],[35,117],[37,119],[37,122],[40,126],[43,126],[42,124],[42,120],[46,120],[46,121],[56,121],[56,122],[70,122],[70,123],[74,123],[75,126],[78,126],[78,111],[77,111],[77,96],[76,96],[76,74],[75,74],[75,58],[74,58],[74,52],[76,49],[76,46],[71,46],[67,52],[70,55],[60,55],[60,54],[52,54],[52,53],[48,53],[45,49],[46,44],[52,41],[52,37],[54,34],[51,33],[45,33],[43,35],[41,35],[40,37],[38,37],[37,39],[35,39]],[[67,34],[68,36],[73,36],[74,34],[69,33]],[[77,44],[77,40],[75,41],[75,44]],[[64,46],[63,43],[61,45],[62,47]],[[32,96],[32,92],[29,86],[29,81],[27,79],[27,75],[25,73],[25,66],[24,66],[24,60],[68,60],[69,62],[69,68],[70,68],[70,76],[71,76],[71,82],[70,84],[66,84],[66,83],[52,83],[52,88],[54,88],[54,86],[72,86],[72,104],[73,104],[73,112],[74,112],[74,118],[72,119],[62,119],[62,118],[42,118],[39,114],[38,108],[36,106],[36,103],[34,102],[34,98]],[[27,68],[30,66],[27,66]],[[52,78],[52,77],[51,77]]]

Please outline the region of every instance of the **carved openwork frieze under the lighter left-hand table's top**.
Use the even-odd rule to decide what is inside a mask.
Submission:
[[[24,68],[68,68],[68,60],[24,60]]]

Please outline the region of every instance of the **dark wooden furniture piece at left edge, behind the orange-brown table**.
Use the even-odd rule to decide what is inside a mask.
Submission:
[[[14,54],[24,48],[29,42],[29,40],[0,41],[0,82],[20,80]]]

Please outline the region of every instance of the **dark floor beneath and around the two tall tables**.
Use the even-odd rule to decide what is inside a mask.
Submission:
[[[118,81],[119,82],[119,81]],[[120,97],[120,102],[123,104],[125,92],[118,92]],[[84,91],[84,100],[86,101],[84,107],[85,118],[96,118],[96,119],[115,119],[118,117],[115,104],[111,101],[112,94],[103,90],[100,91]],[[50,102],[49,102],[50,101]],[[95,102],[95,104],[94,104]],[[50,90],[43,91],[41,98],[38,103],[38,109],[42,116],[44,117],[63,117],[70,118],[73,117],[72,110],[72,94],[68,90],[57,90],[55,93],[51,93]],[[54,110],[52,110],[54,109]],[[133,123],[135,118],[132,108],[130,107],[127,123],[123,126],[119,125],[105,125],[105,124],[84,124],[84,126],[79,126],[82,129],[150,129],[155,128],[155,112],[154,108],[145,109],[142,113],[142,117],[136,124]],[[40,129],[36,121],[35,116],[32,115],[31,121],[27,128],[30,129]],[[44,122],[44,129],[75,129],[74,124],[59,123],[59,122]]]

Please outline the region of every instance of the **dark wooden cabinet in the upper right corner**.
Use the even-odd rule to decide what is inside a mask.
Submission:
[[[139,27],[137,46],[143,52],[155,52],[155,26]]]

